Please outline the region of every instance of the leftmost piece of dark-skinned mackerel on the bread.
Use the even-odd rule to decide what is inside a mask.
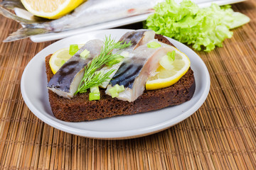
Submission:
[[[85,66],[94,57],[100,55],[102,46],[102,40],[88,41],[53,75],[52,79],[48,82],[47,88],[59,96],[73,98],[82,80]],[[83,59],[80,57],[80,53],[85,49],[90,52],[90,55]]]

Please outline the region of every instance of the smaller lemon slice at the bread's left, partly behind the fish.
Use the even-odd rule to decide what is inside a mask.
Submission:
[[[82,45],[78,45],[78,48],[82,47]],[[50,57],[50,69],[52,70],[53,74],[55,74],[60,67],[67,62],[72,55],[69,54],[69,47],[60,49],[53,53]]]

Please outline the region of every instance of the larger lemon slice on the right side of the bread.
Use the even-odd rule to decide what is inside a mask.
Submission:
[[[146,90],[162,89],[171,86],[188,72],[191,64],[189,58],[175,47],[174,50],[174,61],[168,63],[166,57],[161,58],[159,68],[146,81]]]

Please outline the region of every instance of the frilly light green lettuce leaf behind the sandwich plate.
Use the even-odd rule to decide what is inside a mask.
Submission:
[[[174,0],[166,0],[157,4],[154,10],[155,13],[146,19],[146,28],[193,44],[195,50],[203,47],[207,52],[214,50],[215,46],[222,47],[223,40],[233,35],[230,29],[250,21],[229,5],[212,4],[208,8],[199,8],[190,0],[183,0],[179,5]]]

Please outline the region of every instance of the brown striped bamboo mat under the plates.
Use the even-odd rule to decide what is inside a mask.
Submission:
[[[206,102],[168,130],[132,140],[93,140],[36,118],[23,101],[26,64],[53,42],[3,43],[19,24],[0,16],[0,169],[256,169],[256,2],[233,5],[250,23],[213,52]]]

